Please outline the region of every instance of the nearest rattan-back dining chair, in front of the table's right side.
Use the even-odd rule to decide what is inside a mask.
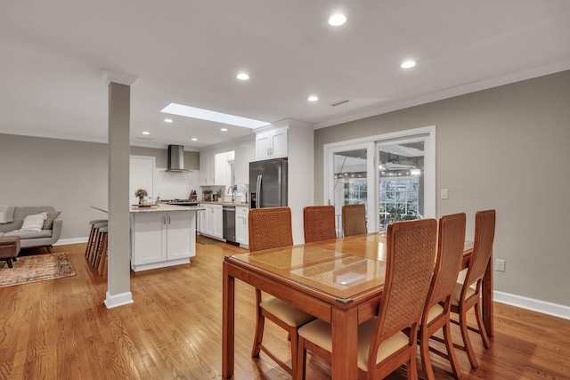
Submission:
[[[403,364],[409,378],[418,378],[419,320],[434,268],[436,242],[434,219],[388,225],[386,275],[379,311],[358,326],[359,378],[384,378]],[[300,327],[298,333],[297,378],[303,379],[307,350],[331,359],[332,331],[329,323],[316,319]]]

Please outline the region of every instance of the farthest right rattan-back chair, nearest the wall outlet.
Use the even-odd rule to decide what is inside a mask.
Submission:
[[[455,284],[452,295],[452,313],[459,314],[461,337],[463,346],[456,347],[467,352],[471,368],[477,368],[475,351],[469,340],[468,330],[476,331],[481,336],[486,349],[490,347],[489,337],[483,323],[481,313],[481,286],[487,265],[493,255],[493,240],[495,236],[495,210],[477,211],[475,215],[475,237],[473,241],[473,253],[469,258],[468,270],[463,283]],[[473,308],[478,329],[467,324],[467,312]]]

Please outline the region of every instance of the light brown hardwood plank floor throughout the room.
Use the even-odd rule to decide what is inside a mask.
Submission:
[[[131,272],[134,303],[108,310],[107,278],[85,262],[84,249],[53,247],[71,254],[77,276],[0,288],[1,379],[221,377],[222,262],[224,255],[245,250],[199,244],[191,264]],[[235,378],[289,378],[263,352],[259,359],[249,356],[254,299],[253,288],[236,281]],[[460,342],[459,327],[452,331]],[[470,371],[465,352],[457,352],[463,379],[570,379],[570,320],[496,303],[491,349],[475,333],[471,337],[479,368]],[[271,322],[265,342],[282,357],[289,355],[287,336]],[[444,360],[433,361],[437,378],[452,378]],[[329,364],[309,355],[307,379],[328,378]],[[396,372],[389,378],[406,376]]]

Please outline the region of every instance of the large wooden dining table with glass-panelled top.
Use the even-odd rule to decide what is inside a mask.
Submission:
[[[466,242],[464,268],[471,248],[472,244]],[[235,279],[330,323],[332,378],[358,377],[357,329],[379,308],[386,271],[385,232],[229,255],[224,258],[223,268],[224,379],[233,378]],[[493,272],[487,268],[482,303],[489,336],[493,336],[492,289]]]

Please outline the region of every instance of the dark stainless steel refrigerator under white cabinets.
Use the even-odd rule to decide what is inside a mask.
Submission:
[[[249,208],[287,206],[287,158],[249,163]]]

